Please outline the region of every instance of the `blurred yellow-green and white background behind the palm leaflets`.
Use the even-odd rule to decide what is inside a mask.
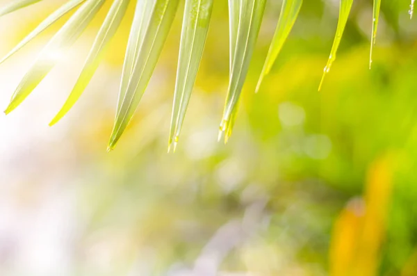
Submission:
[[[2,17],[0,53],[64,1]],[[47,127],[108,4],[26,102],[0,117],[0,275],[417,275],[417,24],[409,1],[382,0],[372,70],[372,1],[354,1],[318,92],[338,1],[305,0],[255,94],[281,6],[268,1],[227,145],[217,142],[229,81],[227,1],[215,1],[175,154],[166,150],[183,6],[114,152],[106,143],[133,3],[80,102]],[[0,66],[2,108],[63,22]]]

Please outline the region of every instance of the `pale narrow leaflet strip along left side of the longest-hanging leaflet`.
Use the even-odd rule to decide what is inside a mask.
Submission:
[[[136,2],[135,15],[129,34],[129,40],[127,42],[126,54],[124,56],[123,70],[122,70],[122,82],[120,83],[120,94],[117,100],[116,114],[120,113],[120,106],[122,106],[122,100],[126,93],[127,85],[131,79],[133,73],[133,65],[138,58],[140,45],[147,31],[149,25],[149,18],[152,15],[152,9],[156,0],[138,0]]]

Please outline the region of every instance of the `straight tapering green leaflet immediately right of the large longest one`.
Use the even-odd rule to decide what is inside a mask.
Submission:
[[[174,151],[177,147],[179,133],[202,59],[212,10],[213,0],[186,0],[168,152],[171,143],[174,145]]]

